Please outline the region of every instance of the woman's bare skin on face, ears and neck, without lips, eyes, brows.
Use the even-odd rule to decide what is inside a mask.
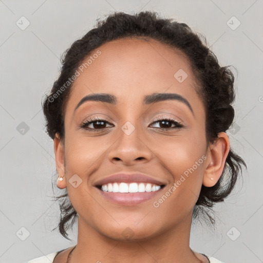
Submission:
[[[207,262],[190,249],[192,214],[202,184],[213,186],[222,174],[230,149],[227,134],[220,133],[214,144],[206,144],[204,105],[191,64],[179,50],[140,38],[111,41],[99,49],[101,55],[72,86],[65,107],[64,140],[58,134],[54,138],[58,175],[64,176],[58,187],[67,187],[79,215],[78,243],[70,262]],[[179,69],[187,73],[182,83],[174,78]],[[143,105],[143,97],[154,92],[178,93],[189,101],[194,115],[177,100]],[[118,103],[89,101],[74,112],[91,93],[110,93]],[[87,118],[96,116],[109,123],[103,126],[106,130],[80,128]],[[155,117],[172,117],[184,127],[160,130],[165,126],[153,124]],[[130,135],[121,129],[127,121],[135,127]],[[88,127],[95,128],[93,124]],[[155,208],[153,201],[203,155],[205,161]],[[166,186],[157,197],[138,205],[115,204],[102,197],[94,184],[119,172],[144,173]],[[74,174],[82,179],[77,188],[69,183]],[[133,231],[130,240],[122,234],[126,228]],[[70,250],[54,262],[65,263]]]

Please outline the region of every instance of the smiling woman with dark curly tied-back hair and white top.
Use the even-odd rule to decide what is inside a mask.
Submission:
[[[59,230],[78,218],[78,242],[29,262],[221,262],[191,250],[190,229],[246,166],[226,134],[233,84],[197,34],[154,12],[116,12],[74,42],[43,109]]]

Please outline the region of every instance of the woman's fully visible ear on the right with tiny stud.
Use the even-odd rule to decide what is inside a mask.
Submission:
[[[214,186],[222,175],[224,164],[230,150],[229,138],[226,133],[219,133],[216,141],[209,145],[206,153],[203,185]]]

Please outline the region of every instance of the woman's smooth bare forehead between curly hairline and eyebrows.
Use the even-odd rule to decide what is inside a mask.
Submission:
[[[189,60],[180,50],[153,39],[110,41],[93,50],[84,63],[72,86],[74,106],[90,93],[111,93],[123,103],[139,102],[139,97],[153,92],[178,93],[190,101],[197,97]]]

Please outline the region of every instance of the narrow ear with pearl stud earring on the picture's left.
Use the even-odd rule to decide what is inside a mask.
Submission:
[[[55,153],[55,165],[57,168],[57,173],[59,175],[59,178],[63,178],[62,181],[60,180],[57,181],[57,185],[60,189],[63,189],[66,187],[64,145],[58,133],[56,133],[54,137],[54,153]]]

